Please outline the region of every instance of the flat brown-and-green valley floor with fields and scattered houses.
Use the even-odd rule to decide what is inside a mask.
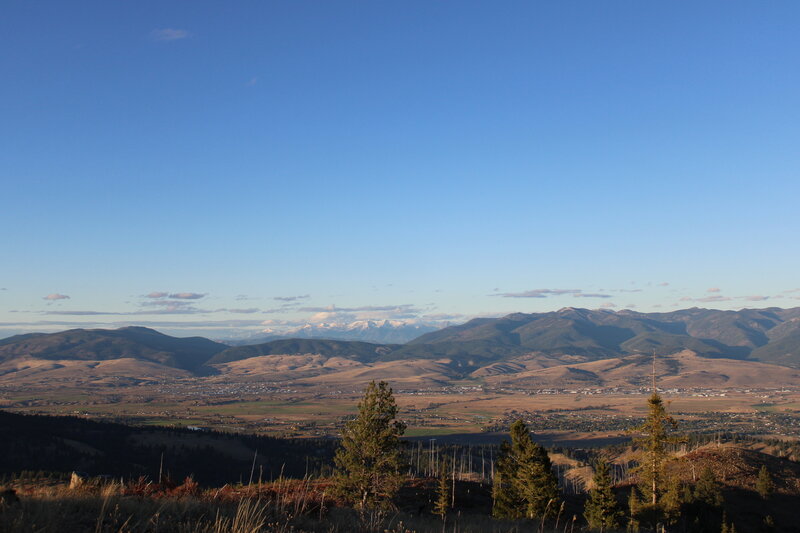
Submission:
[[[523,418],[552,443],[627,438],[644,415],[645,389],[502,390],[478,386],[400,389],[408,437],[496,440]],[[253,382],[185,379],[136,386],[0,389],[0,408],[27,414],[80,415],[142,425],[194,426],[260,435],[335,437],[357,410],[361,391],[276,388]],[[800,390],[663,391],[684,431],[800,436]]]

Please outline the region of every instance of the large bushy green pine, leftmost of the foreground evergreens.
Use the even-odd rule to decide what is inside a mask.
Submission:
[[[345,425],[334,457],[334,488],[360,510],[390,505],[403,483],[397,404],[385,381],[370,383],[358,415]]]

